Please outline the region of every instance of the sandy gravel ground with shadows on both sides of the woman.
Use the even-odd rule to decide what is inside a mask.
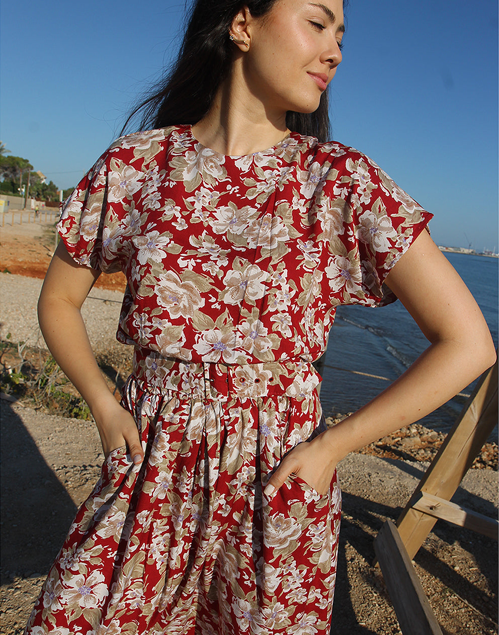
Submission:
[[[40,345],[36,300],[41,281],[0,274],[1,334]],[[114,342],[121,294],[92,290],[84,305],[96,349]],[[100,472],[102,453],[91,422],[40,413],[22,403],[1,403],[2,566],[4,635],[22,633],[44,575],[55,558],[77,505]],[[401,633],[374,559],[373,538],[396,520],[428,464],[352,454],[338,467],[343,520],[331,633]],[[472,469],[453,498],[497,517],[498,474]],[[446,635],[496,634],[497,544],[437,522],[415,557],[415,570]]]

